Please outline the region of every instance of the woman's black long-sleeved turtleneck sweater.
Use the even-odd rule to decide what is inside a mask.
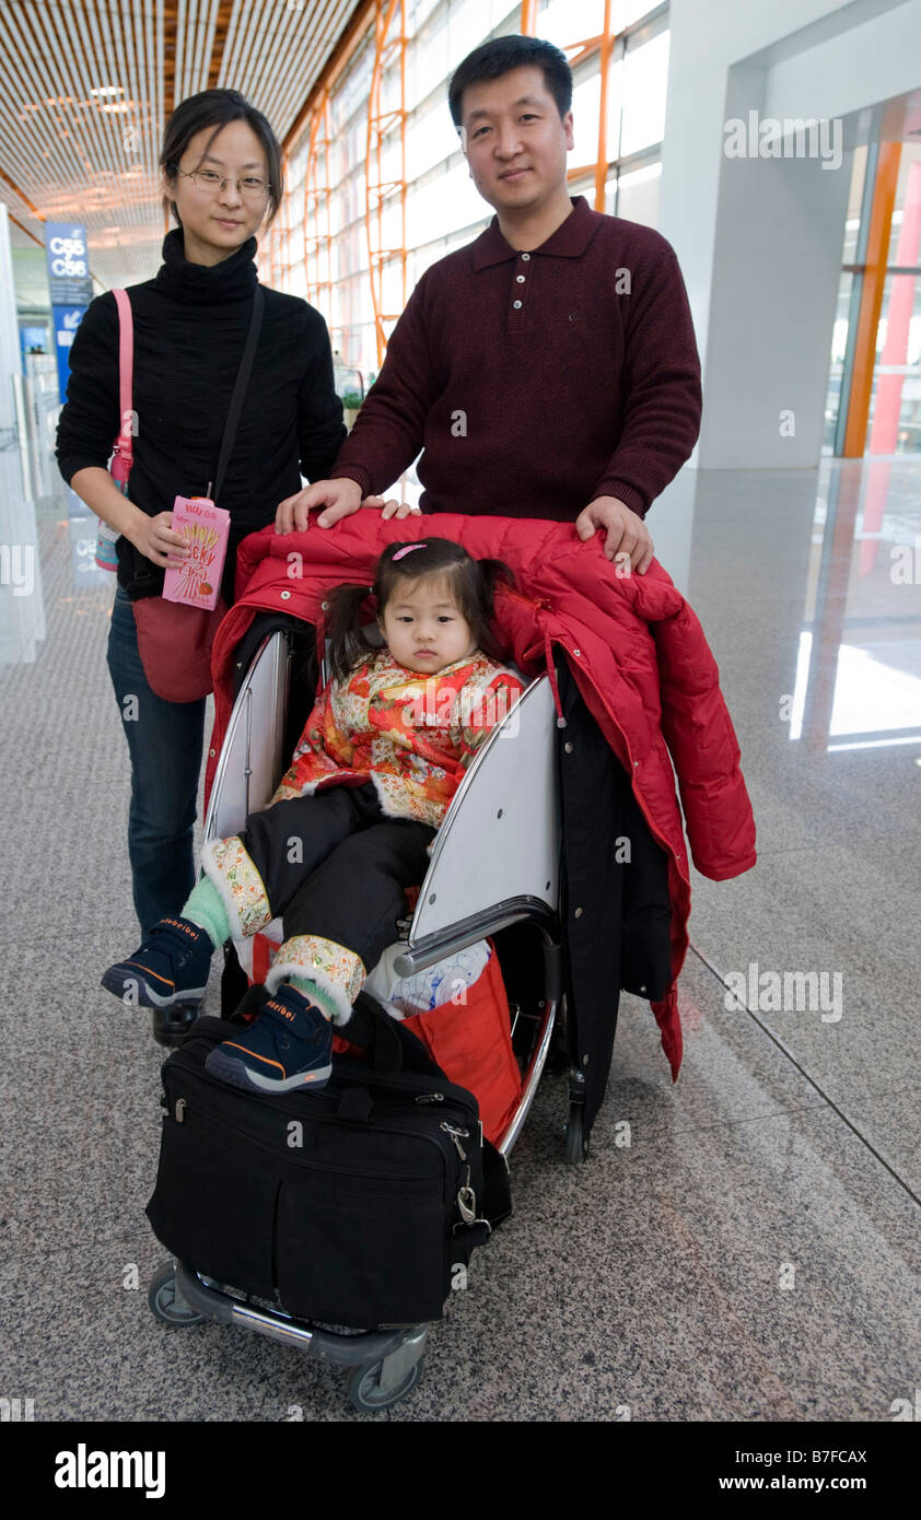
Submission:
[[[217,471],[257,286],[255,246],[251,237],[219,264],[190,264],[182,233],[175,230],[164,240],[157,278],[128,290],[137,412],[128,497],[150,517],[172,511],[176,496],[205,496]],[[58,424],[64,479],[70,483],[88,465],[105,470],[117,432],[119,313],[114,295],[106,293],[87,307],[70,350],[67,404]],[[278,503],[301,488],[301,474],[309,480],[328,476],[343,438],[327,324],[298,296],[264,287],[252,374],[217,503],[231,514],[228,600],[239,541],[274,520]],[[134,556],[132,546],[119,540],[123,585]],[[154,585],[160,590],[161,584],[158,572]]]

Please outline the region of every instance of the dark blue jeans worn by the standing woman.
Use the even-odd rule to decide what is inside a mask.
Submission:
[[[131,600],[116,591],[108,667],[131,754],[128,856],[146,938],[195,886],[193,827],[205,737],[205,698],[164,702],[147,686]]]

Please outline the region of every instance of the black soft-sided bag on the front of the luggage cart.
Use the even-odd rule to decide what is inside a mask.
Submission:
[[[163,1066],[147,1218],[185,1266],[299,1319],[439,1319],[471,1251],[511,1213],[473,1093],[362,993],[327,1087],[267,1096],[205,1072],[240,1026],[198,1018]],[[485,1198],[483,1151],[489,1198]]]

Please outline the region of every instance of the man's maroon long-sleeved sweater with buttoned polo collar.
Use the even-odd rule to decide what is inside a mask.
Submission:
[[[701,363],[670,243],[584,196],[529,254],[498,222],[426,271],[333,477],[386,491],[423,450],[423,512],[644,515],[701,426]]]

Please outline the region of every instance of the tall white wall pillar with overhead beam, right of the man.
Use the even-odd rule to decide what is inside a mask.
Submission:
[[[916,88],[921,0],[672,0],[670,26],[658,225],[681,260],[704,362],[692,462],[813,467],[851,154],[834,169],[821,157],[730,158],[725,123],[757,111],[837,117],[851,144],[872,134],[874,108]]]

